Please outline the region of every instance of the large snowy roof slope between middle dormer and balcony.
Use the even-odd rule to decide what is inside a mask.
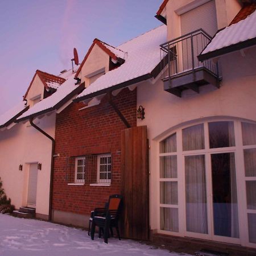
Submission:
[[[127,52],[125,63],[99,77],[75,101],[104,94],[109,88],[120,89],[156,77],[160,72],[159,45],[166,40],[167,28],[163,25],[118,46]]]

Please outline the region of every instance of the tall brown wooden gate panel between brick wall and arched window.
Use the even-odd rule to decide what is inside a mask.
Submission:
[[[122,131],[122,237],[148,240],[148,141],[147,126]]]

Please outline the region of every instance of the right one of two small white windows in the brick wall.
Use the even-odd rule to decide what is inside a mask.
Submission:
[[[98,155],[97,183],[110,183],[111,181],[111,155]]]

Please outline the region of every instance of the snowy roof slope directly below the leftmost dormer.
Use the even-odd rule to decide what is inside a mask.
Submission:
[[[82,89],[84,89],[84,84],[75,85],[75,73],[72,71],[68,72],[69,78],[65,80],[65,82],[59,86],[59,88],[57,88],[55,93],[32,106],[27,112],[23,113],[17,119],[17,121],[20,122],[28,118],[36,117],[53,110],[57,110],[67,101],[71,100],[73,96],[79,94]],[[67,72],[65,73],[65,77],[68,77]]]

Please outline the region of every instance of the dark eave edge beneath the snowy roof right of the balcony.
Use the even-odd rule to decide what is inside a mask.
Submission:
[[[234,52],[234,51],[239,51],[240,49],[244,49],[244,48],[255,46],[255,45],[256,45],[256,38],[252,38],[237,44],[232,44],[231,46],[226,46],[221,49],[216,49],[215,51],[212,51],[212,52],[200,54],[197,58],[200,61],[209,60],[214,57],[219,57],[221,55]]]

